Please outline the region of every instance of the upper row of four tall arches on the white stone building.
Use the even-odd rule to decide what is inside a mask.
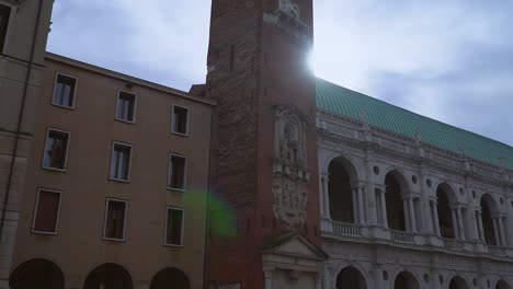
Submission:
[[[366,210],[371,209],[365,206],[365,198],[369,197],[366,187],[351,161],[343,157],[333,159],[328,175],[321,177],[323,217],[364,224],[368,218]],[[436,186],[436,197],[430,197],[429,216],[423,216],[421,196],[410,192],[408,180],[398,170],[387,172],[383,186],[376,187],[374,193],[376,221],[384,228],[412,233],[431,230],[445,239],[465,241],[474,229],[465,220],[476,218],[474,230],[479,240],[489,245],[506,246],[505,216],[489,194],[481,196],[480,207],[467,209],[466,204],[458,203],[452,186],[442,183]],[[422,219],[431,219],[431,228],[422,228],[428,227]]]

